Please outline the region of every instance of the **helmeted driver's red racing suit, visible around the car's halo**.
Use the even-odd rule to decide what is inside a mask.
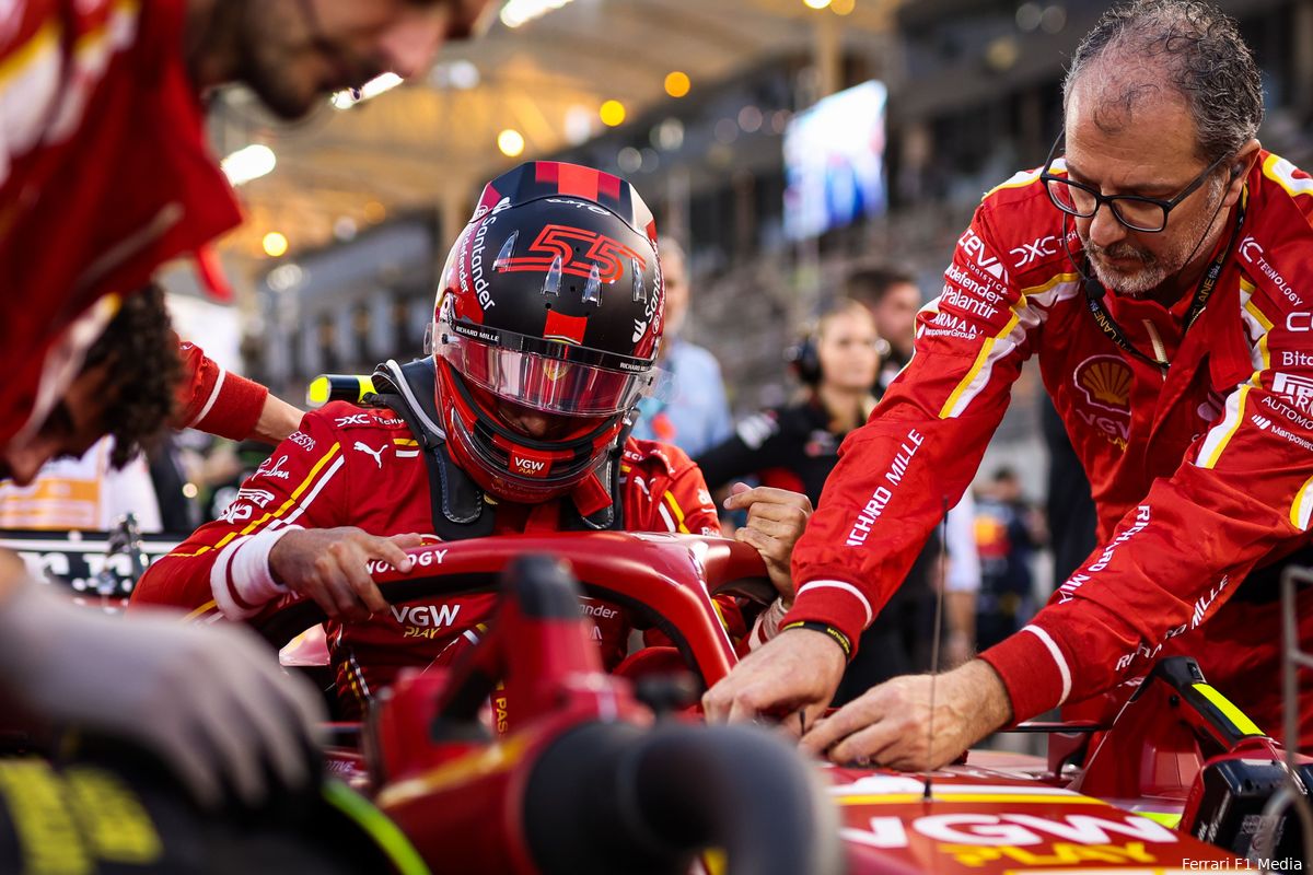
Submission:
[[[621,501],[630,531],[720,533],[701,471],[672,446],[629,439],[621,462]],[[559,510],[559,501],[498,504],[495,534],[557,531]],[[280,533],[357,526],[382,537],[423,534],[432,529],[429,514],[428,471],[406,424],[391,411],[332,403],[305,416],[301,430],[243,484],[223,519],[201,526],[151,565],[133,603],[181,606],[197,615],[218,610],[228,619],[246,619],[264,602],[247,601],[236,589],[238,577],[263,577],[268,600],[284,592],[268,571],[268,554]],[[328,651],[344,710],[360,710],[403,666],[427,665],[453,644],[474,640],[495,601],[492,594],[477,594],[408,602],[368,622],[328,623]],[[614,665],[628,645],[630,624],[624,611],[593,600],[580,609],[596,624],[607,664]],[[727,624],[731,635],[742,635],[735,618]]]

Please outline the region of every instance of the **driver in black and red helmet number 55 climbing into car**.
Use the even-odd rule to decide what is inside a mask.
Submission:
[[[133,605],[247,619],[286,593],[307,596],[331,618],[339,701],[355,715],[400,668],[470,647],[495,606],[494,594],[389,606],[370,565],[408,571],[415,533],[718,534],[688,457],[629,437],[659,374],[663,300],[655,223],[628,182],[554,161],[495,178],[442,270],[433,354],[376,371],[387,407],[307,413],[223,519],[151,565]],[[759,487],[727,506],[747,509],[739,538],[788,593],[806,496]],[[423,555],[440,565],[442,552]],[[721,607],[741,636],[734,603]],[[616,665],[624,611],[582,610]]]

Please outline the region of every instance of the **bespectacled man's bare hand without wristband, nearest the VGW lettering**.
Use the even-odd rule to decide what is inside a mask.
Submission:
[[[982,660],[937,677],[932,724],[930,686],[930,674],[873,686],[817,722],[802,746],[834,762],[924,771],[952,762],[1012,719],[1003,682]]]

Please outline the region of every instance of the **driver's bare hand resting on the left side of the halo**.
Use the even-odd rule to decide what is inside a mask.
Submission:
[[[368,563],[381,559],[400,572],[411,569],[406,547],[420,535],[378,538],[355,526],[289,531],[269,551],[274,580],[315,600],[331,619],[362,621],[387,610],[387,600],[369,576]]]

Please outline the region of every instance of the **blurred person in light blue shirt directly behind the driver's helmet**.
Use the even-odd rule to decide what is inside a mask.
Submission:
[[[734,433],[720,362],[708,349],[681,336],[692,298],[688,260],[675,240],[660,241],[666,281],[666,337],[658,366],[668,374],[659,392],[638,403],[634,437],[672,443],[696,457]]]

